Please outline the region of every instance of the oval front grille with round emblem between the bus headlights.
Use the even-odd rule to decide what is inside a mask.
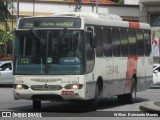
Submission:
[[[32,85],[31,86],[32,90],[36,91],[56,91],[56,90],[61,90],[62,86],[60,85]]]

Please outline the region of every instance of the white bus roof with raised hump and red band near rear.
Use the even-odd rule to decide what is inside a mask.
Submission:
[[[38,18],[38,17],[39,18],[41,17],[82,18],[84,20],[84,24],[87,24],[87,25],[127,27],[127,28],[134,28],[134,29],[150,30],[150,25],[147,23],[123,21],[122,18],[118,15],[105,14],[105,13],[64,12],[64,13],[53,14],[52,16],[34,16],[34,17],[27,17],[27,18]]]

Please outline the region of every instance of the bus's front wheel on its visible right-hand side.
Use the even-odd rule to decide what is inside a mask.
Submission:
[[[95,89],[95,97],[90,101],[90,107],[92,110],[97,110],[98,108],[98,102],[99,102],[99,97],[100,97],[100,91],[98,89],[98,85],[96,85]]]

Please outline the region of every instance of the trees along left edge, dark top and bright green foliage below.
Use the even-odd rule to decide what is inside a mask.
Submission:
[[[0,0],[0,24],[4,29],[0,29],[0,56],[5,57],[12,50],[13,33],[10,32],[8,20],[12,18],[9,9],[12,7],[12,0]]]

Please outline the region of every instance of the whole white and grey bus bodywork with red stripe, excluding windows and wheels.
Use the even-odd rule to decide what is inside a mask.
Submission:
[[[74,18],[72,16],[72,18]],[[77,17],[75,17],[77,18]],[[118,28],[130,28],[129,22],[120,20],[106,20],[100,18],[83,18],[81,19],[80,28],[68,28],[68,30],[84,30],[87,31],[86,26],[99,26],[99,27],[118,27]],[[19,23],[19,22],[18,22]],[[148,24],[139,23],[138,29],[150,30]],[[18,27],[17,27],[18,29]],[[42,28],[35,28],[35,30]],[[45,28],[48,29],[48,28]],[[63,28],[49,28],[53,30]],[[137,29],[137,28],[136,28]],[[85,46],[85,44],[84,44]],[[96,48],[94,48],[95,50]],[[58,100],[89,100],[95,97],[95,88],[98,79],[102,79],[103,86],[100,96],[114,96],[122,95],[131,92],[131,80],[133,76],[136,76],[137,91],[143,91],[150,87],[152,84],[152,57],[150,56],[126,56],[126,57],[96,57],[94,60],[94,68],[89,73],[83,75],[14,75],[14,84],[27,85],[28,89],[14,89],[15,99],[30,99],[39,97],[39,100],[43,100],[40,96],[51,95],[53,98],[45,100],[55,100],[56,96],[59,96]],[[86,63],[85,63],[86,64]],[[82,84],[82,89],[67,90],[65,88],[68,84]],[[43,90],[33,90],[32,86],[40,85]],[[46,90],[49,85],[61,86],[59,90]],[[37,96],[38,97],[37,97]],[[36,97],[33,97],[36,96]]]

